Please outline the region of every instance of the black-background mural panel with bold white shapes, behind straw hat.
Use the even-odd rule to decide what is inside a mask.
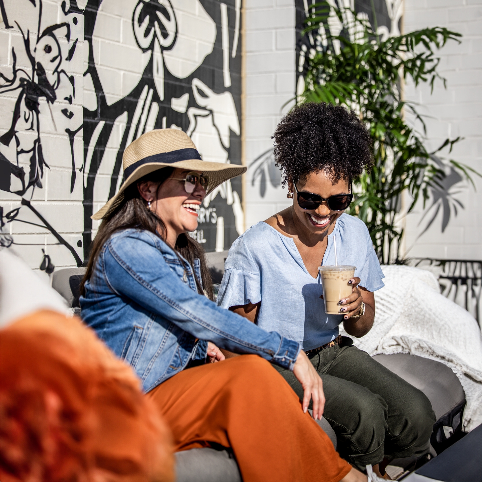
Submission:
[[[85,258],[97,229],[90,216],[119,189],[123,151],[140,135],[182,129],[203,160],[241,164],[240,19],[241,0],[87,4]],[[206,251],[224,250],[244,230],[240,194],[235,178],[204,200],[190,234]]]

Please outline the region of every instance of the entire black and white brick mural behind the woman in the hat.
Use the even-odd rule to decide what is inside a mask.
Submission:
[[[204,160],[241,163],[241,0],[0,0],[0,13],[4,243],[16,242],[8,225],[33,223],[48,231],[44,251],[62,245],[81,264],[125,147],[149,130],[182,129]],[[81,201],[80,211],[36,208],[47,172],[59,204]],[[237,178],[204,200],[192,236],[222,251],[243,229]],[[39,255],[41,244],[31,244]]]

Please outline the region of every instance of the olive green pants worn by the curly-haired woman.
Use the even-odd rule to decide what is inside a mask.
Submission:
[[[323,380],[323,416],[335,430],[337,451],[360,470],[378,464],[384,455],[422,455],[435,423],[428,398],[352,343],[343,337],[341,345],[311,357]],[[273,366],[303,400],[293,372]]]

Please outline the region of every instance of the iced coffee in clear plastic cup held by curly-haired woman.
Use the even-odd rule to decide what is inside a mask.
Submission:
[[[341,306],[338,302],[351,295],[352,285],[348,284],[355,274],[356,266],[320,266],[323,286],[325,312],[330,315],[340,315]]]

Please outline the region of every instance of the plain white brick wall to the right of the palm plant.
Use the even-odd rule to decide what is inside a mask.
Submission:
[[[428,85],[414,88],[408,84],[405,96],[418,103],[420,112],[428,116],[425,121],[430,150],[439,147],[446,137],[454,139],[460,135],[464,140],[455,144],[451,154],[445,149],[442,156],[482,172],[482,1],[405,0],[405,32],[435,26],[463,34],[461,44],[449,42],[440,52],[439,71],[447,79],[447,89],[437,81],[430,95]],[[473,177],[477,192],[467,183],[453,187],[454,192],[461,191],[455,198],[465,209],[458,209],[456,217],[452,213],[444,233],[442,212],[420,237],[426,222],[420,222],[422,206],[407,217],[408,256],[482,259],[482,179]]]

